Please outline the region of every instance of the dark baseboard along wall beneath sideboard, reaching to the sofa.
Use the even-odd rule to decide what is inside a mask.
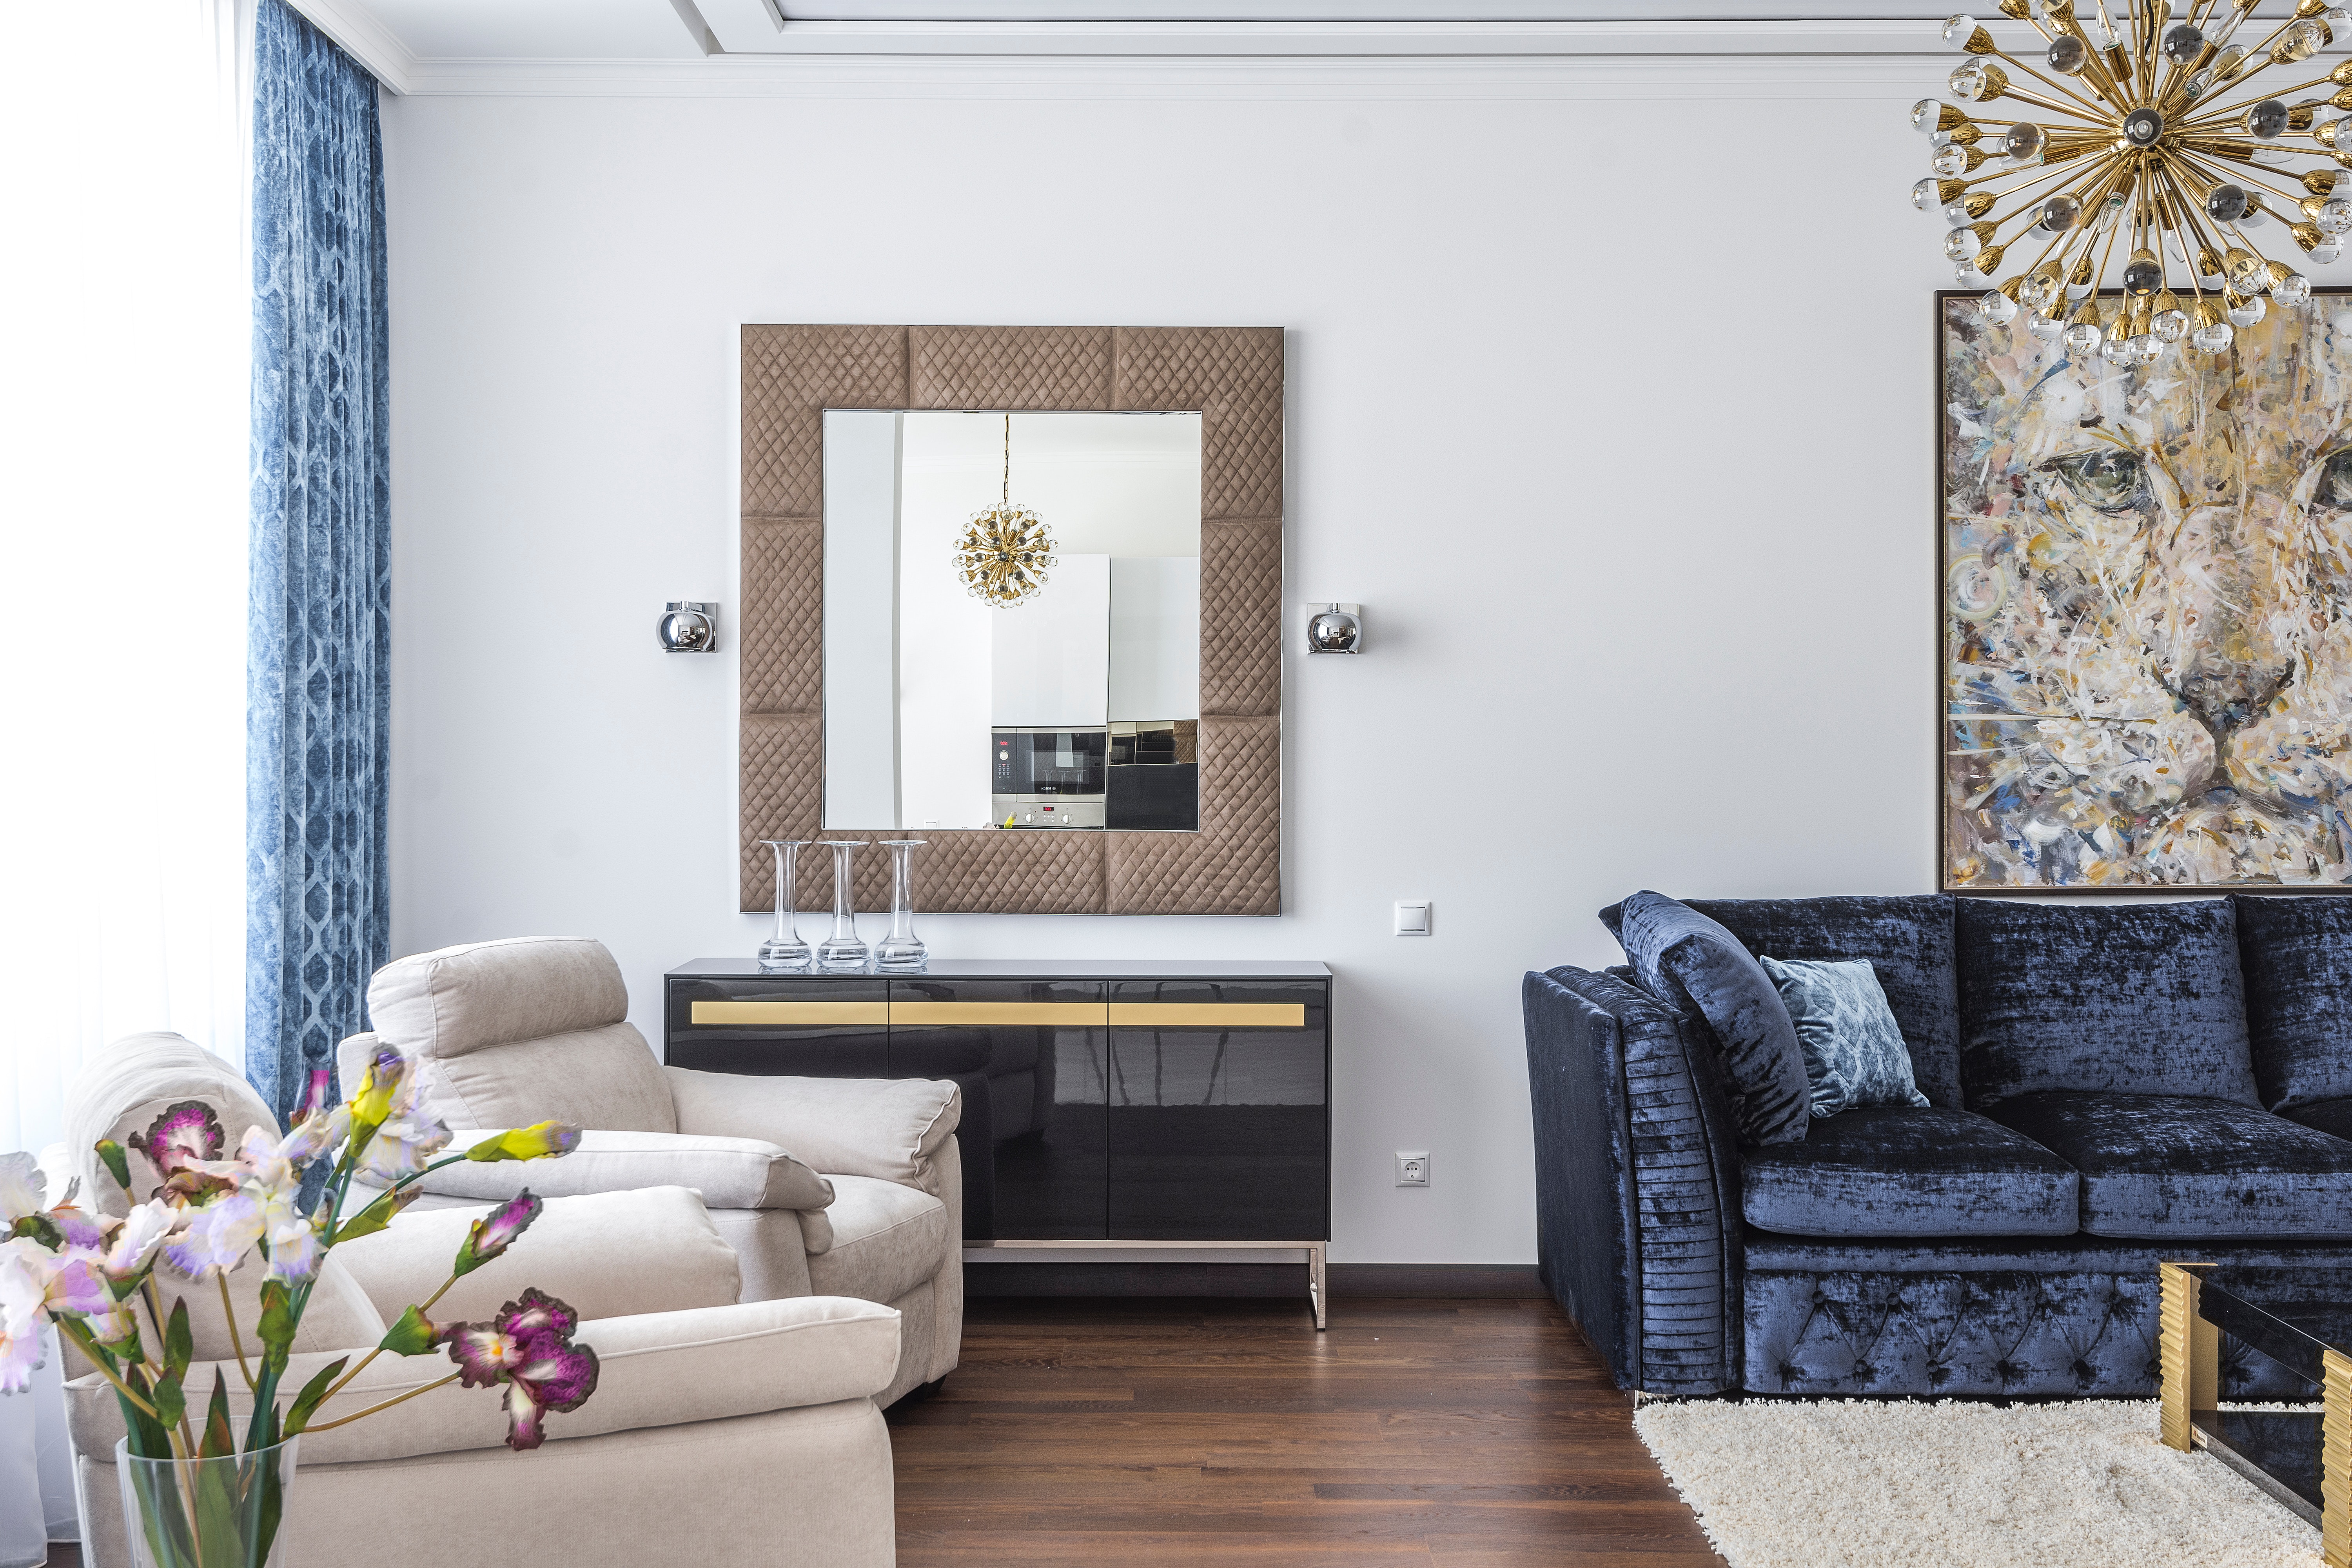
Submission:
[[[1331,1295],[1543,1295],[1531,1262],[1334,1262]],[[1303,1262],[967,1262],[964,1295],[1305,1295]]]

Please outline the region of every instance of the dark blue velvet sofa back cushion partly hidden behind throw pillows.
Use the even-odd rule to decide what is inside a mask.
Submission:
[[[1933,1105],[1962,1103],[1950,893],[1691,898],[1689,905],[1759,959],[1865,959],[1903,1030],[1919,1093]]]

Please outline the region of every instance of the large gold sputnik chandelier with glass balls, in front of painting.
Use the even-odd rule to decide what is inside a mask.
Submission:
[[[2110,364],[2154,364],[2176,343],[2227,353],[2265,296],[2312,296],[2265,244],[2326,266],[2352,230],[2352,61],[2293,80],[2352,12],[2300,0],[2253,21],[2251,0],[2089,2],[2002,0],[2042,35],[2032,61],[1973,16],[1943,24],[1969,54],[1950,78],[1962,103],[1912,108],[1933,169],[1912,205],[1950,223],[1943,254],[1964,287],[1994,284],[1992,324],[2025,310],[2034,336]],[[2011,106],[2032,113],[2011,122]]]

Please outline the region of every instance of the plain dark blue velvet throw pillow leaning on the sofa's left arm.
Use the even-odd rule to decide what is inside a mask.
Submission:
[[[1642,990],[1698,1013],[1715,1034],[1740,1140],[1802,1140],[1811,1088],[1771,976],[1736,936],[1663,893],[1635,893],[1611,912]]]

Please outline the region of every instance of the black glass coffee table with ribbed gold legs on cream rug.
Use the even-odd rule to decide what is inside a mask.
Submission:
[[[2159,1434],[2204,1448],[2319,1526],[2319,1556],[2352,1568],[2352,1349],[2213,1284],[2209,1262],[2159,1262]],[[2220,1335],[2319,1385],[2319,1410],[2223,1410]]]

